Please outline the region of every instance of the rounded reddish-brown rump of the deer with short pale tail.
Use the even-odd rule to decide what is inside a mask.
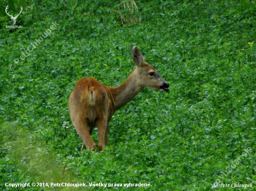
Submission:
[[[79,115],[91,128],[97,126],[97,121],[104,118],[109,121],[114,115],[115,106],[112,104],[111,94],[105,85],[92,77],[81,78],[74,86],[70,95],[69,112],[74,110],[75,118]],[[74,121],[72,119],[72,121]]]

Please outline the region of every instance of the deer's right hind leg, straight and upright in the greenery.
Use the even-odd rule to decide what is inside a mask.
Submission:
[[[99,152],[104,151],[104,146],[108,146],[108,121],[106,119],[99,119],[97,121],[99,131]],[[107,134],[107,141],[106,141]]]

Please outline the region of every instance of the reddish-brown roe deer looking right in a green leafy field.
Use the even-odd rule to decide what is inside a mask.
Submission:
[[[84,77],[77,81],[71,92],[68,100],[69,114],[87,149],[96,148],[91,137],[94,127],[98,127],[99,151],[108,146],[110,119],[117,109],[130,102],[143,88],[163,91],[169,87],[155,68],[144,61],[136,46],[132,48],[132,56],[136,67],[121,85],[109,87],[92,77]]]

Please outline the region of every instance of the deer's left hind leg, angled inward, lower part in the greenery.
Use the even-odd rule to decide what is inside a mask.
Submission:
[[[94,151],[96,148],[96,144],[94,143],[94,140],[91,137],[92,128],[88,127],[87,121],[82,120],[81,118],[79,119],[79,117],[78,117],[75,120],[73,120],[73,125],[74,125],[77,133],[83,140],[83,144],[86,146],[86,148],[93,149],[93,151]],[[83,149],[83,145],[82,145],[81,151],[82,151],[82,149]]]

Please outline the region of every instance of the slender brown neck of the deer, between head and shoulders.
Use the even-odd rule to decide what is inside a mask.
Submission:
[[[135,69],[119,86],[109,87],[116,110],[130,102],[143,89],[143,87],[138,85],[136,75],[137,72]]]

